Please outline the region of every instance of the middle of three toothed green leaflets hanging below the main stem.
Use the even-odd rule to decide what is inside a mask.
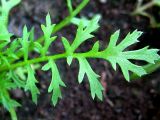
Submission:
[[[58,68],[56,66],[56,63],[53,60],[49,60],[49,62],[46,65],[44,65],[42,68],[42,70],[44,71],[47,71],[49,69],[51,69],[51,72],[52,72],[52,80],[48,88],[48,92],[53,92],[52,103],[55,106],[58,102],[58,99],[62,98],[60,86],[65,87],[65,84],[61,80]]]

